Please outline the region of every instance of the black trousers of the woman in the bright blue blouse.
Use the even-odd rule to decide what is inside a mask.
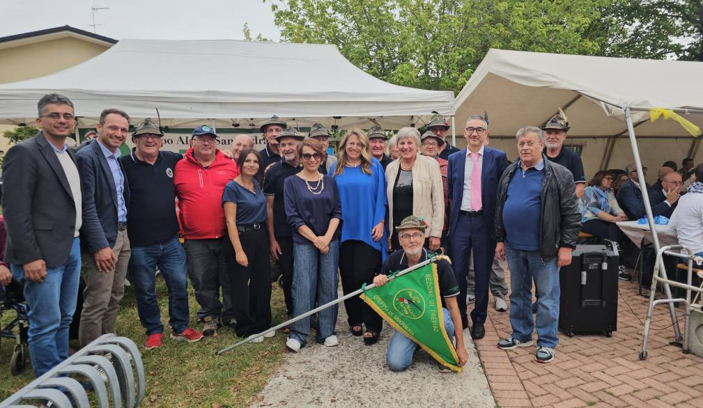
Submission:
[[[348,240],[340,246],[340,275],[342,290],[349,294],[360,289],[364,283],[373,282],[374,275],[381,269],[381,253],[363,241]],[[383,320],[359,296],[344,301],[349,326],[360,326],[366,330],[381,332]]]

